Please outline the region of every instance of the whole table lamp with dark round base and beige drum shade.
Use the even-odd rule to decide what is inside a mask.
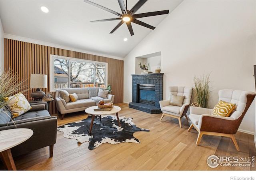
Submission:
[[[40,88],[47,88],[47,75],[46,74],[31,74],[30,88],[36,88],[36,91],[31,93],[34,100],[42,100],[45,93]]]

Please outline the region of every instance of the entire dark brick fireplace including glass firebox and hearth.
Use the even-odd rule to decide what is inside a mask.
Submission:
[[[132,74],[132,102],[134,108],[151,114],[161,113],[164,73]]]

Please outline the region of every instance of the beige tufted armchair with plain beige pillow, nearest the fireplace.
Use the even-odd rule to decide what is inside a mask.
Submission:
[[[188,120],[188,116],[186,115],[186,113],[188,111],[192,98],[193,88],[170,86],[169,92],[170,96],[168,100],[159,101],[162,111],[160,121],[162,121],[165,115],[177,118],[181,128],[181,118],[185,116]]]

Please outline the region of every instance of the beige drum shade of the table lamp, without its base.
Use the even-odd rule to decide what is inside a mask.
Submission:
[[[46,74],[31,74],[30,88],[47,88]]]

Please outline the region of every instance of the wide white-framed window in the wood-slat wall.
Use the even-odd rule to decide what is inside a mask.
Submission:
[[[106,87],[107,63],[51,55],[50,89]]]

